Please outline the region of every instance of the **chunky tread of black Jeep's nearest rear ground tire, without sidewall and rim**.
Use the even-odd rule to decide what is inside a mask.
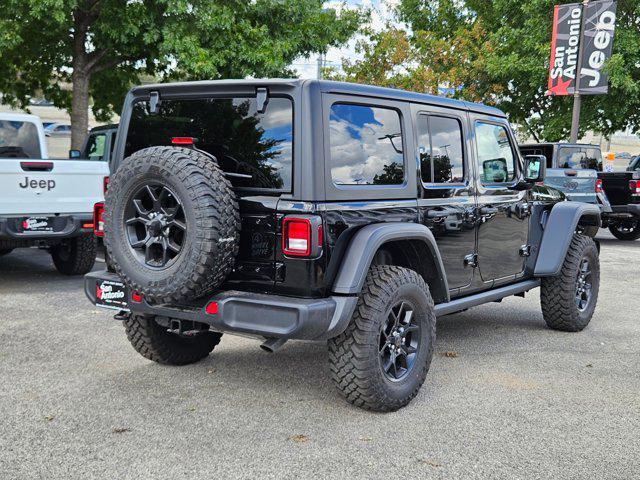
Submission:
[[[425,326],[429,342],[428,345],[421,346],[427,348],[426,361],[413,367],[412,375],[415,374],[415,369],[419,369],[414,388],[404,398],[397,399],[389,397],[382,388],[379,381],[382,378],[379,360],[377,355],[372,358],[367,350],[373,343],[375,351],[378,351],[379,326],[373,319],[386,315],[387,301],[391,299],[394,291],[407,283],[417,286],[425,294],[428,305]],[[372,266],[349,326],[342,334],[328,341],[332,380],[342,396],[357,407],[379,412],[398,410],[418,394],[424,383],[433,357],[435,335],[433,299],[423,278],[415,271],[403,267]]]

